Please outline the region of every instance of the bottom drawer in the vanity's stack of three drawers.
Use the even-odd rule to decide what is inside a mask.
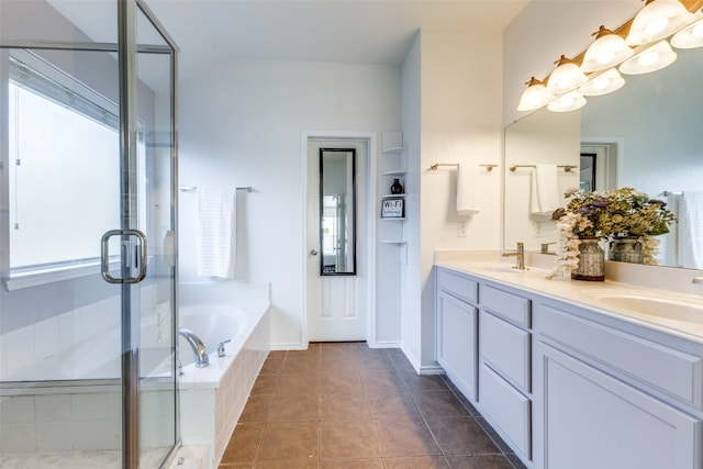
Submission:
[[[481,364],[479,371],[479,404],[487,418],[498,427],[501,436],[515,453],[524,459],[531,459],[529,399],[486,364]]]

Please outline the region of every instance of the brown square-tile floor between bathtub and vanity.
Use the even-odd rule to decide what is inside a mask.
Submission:
[[[399,349],[272,351],[219,469],[524,468],[453,384]]]

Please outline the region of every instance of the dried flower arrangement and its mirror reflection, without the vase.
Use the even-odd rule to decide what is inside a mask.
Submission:
[[[645,264],[657,264],[658,236],[669,232],[676,221],[660,200],[625,187],[612,191],[581,192],[569,189],[566,208],[557,209],[557,265],[547,278],[568,275],[579,265],[580,238],[612,239],[637,237]]]

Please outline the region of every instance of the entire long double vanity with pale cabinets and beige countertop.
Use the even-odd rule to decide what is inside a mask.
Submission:
[[[700,272],[665,268],[659,273],[671,276],[660,284],[685,283],[665,290],[651,287],[649,272],[639,284],[546,280],[547,269],[517,270],[496,258],[438,253],[438,331],[451,332],[438,350],[458,357],[449,361],[453,379],[523,461],[534,469],[703,468],[703,317],[605,300],[629,294],[701,308],[703,291],[691,294]],[[610,278],[621,280],[643,267],[609,264]],[[464,336],[459,324],[468,326]],[[456,354],[467,347],[477,351],[471,359]]]

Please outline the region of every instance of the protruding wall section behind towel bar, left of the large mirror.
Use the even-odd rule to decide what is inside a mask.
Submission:
[[[436,367],[435,249],[500,246],[500,172],[478,165],[501,159],[501,51],[499,33],[423,30],[403,67],[411,210],[402,345],[415,368],[428,372]],[[481,213],[467,221],[466,236],[458,234],[456,169],[431,171],[433,163],[477,169]]]

